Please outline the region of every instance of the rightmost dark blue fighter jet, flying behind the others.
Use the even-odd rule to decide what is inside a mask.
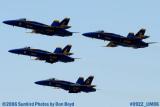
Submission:
[[[149,38],[149,36],[145,35],[145,29],[140,29],[136,34],[130,32],[128,33],[127,37],[104,31],[89,32],[89,33],[84,33],[82,35],[90,38],[110,41],[109,44],[106,45],[105,47],[117,47],[118,45],[120,45],[124,47],[132,47],[134,49],[138,49],[138,48],[148,47],[149,44],[155,43],[155,42],[146,43],[143,41],[143,39]]]

